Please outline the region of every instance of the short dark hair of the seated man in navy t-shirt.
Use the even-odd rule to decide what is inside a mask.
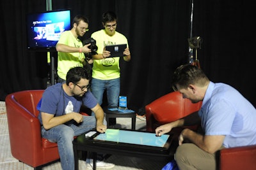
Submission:
[[[87,80],[90,80],[90,75],[88,74],[88,70],[84,67],[72,67],[66,76],[66,83],[67,85],[72,83],[77,83],[81,80],[81,78],[85,78]]]

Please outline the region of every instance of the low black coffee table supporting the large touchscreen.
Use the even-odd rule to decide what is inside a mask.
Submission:
[[[132,131],[132,132],[143,132],[143,133],[152,133],[146,131],[134,131],[127,129],[120,129],[121,131]],[[145,159],[161,160],[161,161],[170,161],[173,159],[173,155],[177,148],[177,143],[172,142],[171,144],[164,146],[165,148],[157,148],[154,146],[146,145],[134,145],[130,143],[121,143],[121,142],[112,142],[112,141],[102,141],[95,140],[92,138],[86,138],[85,134],[77,136],[73,141],[74,147],[74,157],[75,157],[75,169],[78,169],[78,152],[85,151],[90,152],[93,155],[93,169],[96,169],[96,160],[97,153],[107,153],[111,155],[124,155],[129,157],[140,157]],[[154,133],[150,134],[153,135]],[[155,134],[154,134],[155,135]],[[131,136],[129,136],[131,138]]]

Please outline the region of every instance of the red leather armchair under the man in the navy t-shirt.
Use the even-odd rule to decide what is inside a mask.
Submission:
[[[57,144],[41,137],[36,105],[43,92],[14,92],[5,99],[12,155],[32,167],[60,159]]]

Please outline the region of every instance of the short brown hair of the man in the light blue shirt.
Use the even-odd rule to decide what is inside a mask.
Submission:
[[[184,64],[174,71],[172,88],[177,91],[177,85],[182,89],[188,88],[190,84],[204,86],[208,81],[209,79],[202,69],[191,64]]]

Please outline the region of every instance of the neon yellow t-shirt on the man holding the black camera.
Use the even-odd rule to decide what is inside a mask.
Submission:
[[[83,47],[83,43],[74,37],[71,31],[63,32],[58,43],[77,48]],[[58,76],[63,80],[66,80],[66,76],[70,68],[83,67],[82,59],[84,59],[84,53],[58,52]]]

